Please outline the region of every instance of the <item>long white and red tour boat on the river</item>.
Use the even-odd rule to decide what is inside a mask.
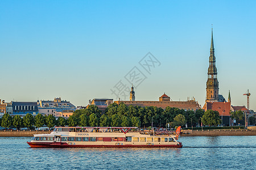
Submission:
[[[137,132],[134,127],[56,127],[50,134],[34,134],[30,147],[177,147],[176,131]]]

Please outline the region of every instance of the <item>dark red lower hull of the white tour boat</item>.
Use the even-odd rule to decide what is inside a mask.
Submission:
[[[27,142],[30,147],[175,147],[181,148],[182,144],[180,145],[68,145],[68,143],[64,142]]]

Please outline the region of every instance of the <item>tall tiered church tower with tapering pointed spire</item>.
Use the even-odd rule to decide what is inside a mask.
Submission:
[[[217,102],[218,101],[218,80],[217,80],[217,68],[216,58],[214,56],[214,45],[213,45],[213,30],[212,40],[210,42],[210,57],[208,67],[208,79],[207,79],[207,99],[206,102]]]

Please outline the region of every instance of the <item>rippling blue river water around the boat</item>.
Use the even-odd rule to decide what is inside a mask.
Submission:
[[[183,148],[30,148],[0,137],[1,169],[256,169],[256,136],[180,137]]]

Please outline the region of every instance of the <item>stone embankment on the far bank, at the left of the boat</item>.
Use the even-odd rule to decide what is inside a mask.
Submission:
[[[34,134],[48,134],[51,131],[48,130],[1,130],[0,137],[33,137]]]

